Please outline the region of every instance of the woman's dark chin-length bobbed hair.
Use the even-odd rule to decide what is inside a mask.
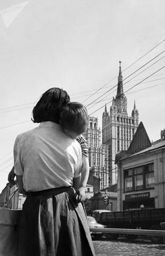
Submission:
[[[59,124],[62,108],[69,103],[70,97],[63,89],[53,87],[45,91],[36,103],[32,115],[33,122],[52,121]]]

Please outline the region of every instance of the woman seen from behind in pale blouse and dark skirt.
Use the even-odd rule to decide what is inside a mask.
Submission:
[[[20,222],[20,256],[93,256],[94,248],[82,203],[76,204],[73,179],[82,164],[80,144],[59,125],[69,95],[45,91],[33,110],[39,127],[17,136],[15,174],[27,195]]]

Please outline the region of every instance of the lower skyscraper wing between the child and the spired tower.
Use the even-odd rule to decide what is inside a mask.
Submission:
[[[101,144],[101,129],[98,119],[89,117],[89,124],[85,134],[89,148],[90,172],[100,179],[100,189],[108,186],[108,146]]]

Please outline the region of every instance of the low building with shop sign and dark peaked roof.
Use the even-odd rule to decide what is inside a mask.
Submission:
[[[165,207],[165,140],[152,145],[141,122],[127,151],[117,153],[117,210]]]

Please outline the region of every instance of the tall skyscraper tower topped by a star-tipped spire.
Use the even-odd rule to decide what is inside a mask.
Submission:
[[[105,110],[102,115],[102,143],[108,145],[108,186],[117,183],[117,166],[115,155],[118,151],[127,151],[138,127],[138,110],[134,102],[131,117],[127,114],[127,98],[122,84],[122,68],[120,61],[117,94],[113,97],[110,113]]]

